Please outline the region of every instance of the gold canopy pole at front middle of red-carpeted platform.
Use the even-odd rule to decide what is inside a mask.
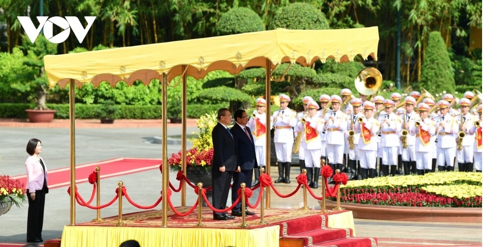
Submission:
[[[166,74],[163,73],[163,76],[162,76],[162,80],[161,80],[161,87],[162,87],[162,116],[163,116],[163,132],[161,133],[162,136],[163,136],[163,193],[162,193],[162,196],[163,196],[163,199],[162,199],[162,217],[163,217],[163,222],[162,222],[162,225],[161,227],[167,227],[168,226],[168,220],[167,220],[167,217],[168,217],[168,186],[169,186],[169,167],[168,167],[168,137],[167,137],[167,133],[168,133],[168,127],[167,127],[167,114],[168,114],[168,110],[167,110],[167,86],[168,85],[168,82],[167,82],[167,78],[166,78]]]

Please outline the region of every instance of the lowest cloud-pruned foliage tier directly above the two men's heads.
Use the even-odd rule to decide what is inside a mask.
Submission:
[[[203,89],[198,97],[201,100],[213,103],[223,103],[230,101],[245,102],[250,101],[250,96],[242,91],[225,86]]]

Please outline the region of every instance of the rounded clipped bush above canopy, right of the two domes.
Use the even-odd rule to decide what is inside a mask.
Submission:
[[[270,22],[270,29],[330,29],[325,14],[310,3],[294,2],[281,7]]]

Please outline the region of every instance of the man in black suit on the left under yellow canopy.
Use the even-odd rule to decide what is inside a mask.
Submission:
[[[228,192],[230,191],[233,171],[237,169],[236,146],[233,136],[228,129],[231,123],[231,113],[226,108],[218,110],[218,124],[211,131],[213,141],[213,162],[211,164],[212,204],[216,209],[226,208]],[[213,211],[213,220],[234,219],[227,213]]]

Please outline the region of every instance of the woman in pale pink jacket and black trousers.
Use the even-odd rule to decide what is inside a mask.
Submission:
[[[30,155],[25,161],[28,199],[27,242],[40,243],[44,241],[42,226],[44,224],[45,194],[49,192],[47,167],[39,156],[42,152],[42,142],[39,139],[30,139],[26,150]]]

